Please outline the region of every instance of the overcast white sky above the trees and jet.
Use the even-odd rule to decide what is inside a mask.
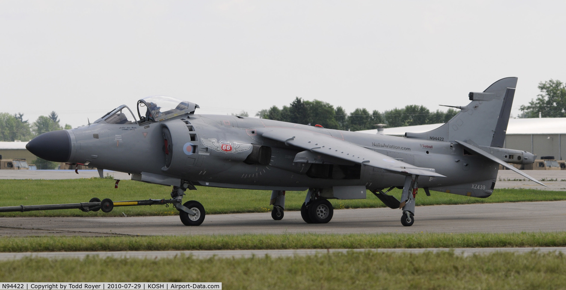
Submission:
[[[519,78],[512,115],[566,81],[564,1],[0,0],[0,112],[79,126],[149,95],[254,116],[464,105]]]

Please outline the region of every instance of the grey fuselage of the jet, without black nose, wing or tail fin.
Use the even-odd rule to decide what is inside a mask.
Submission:
[[[166,165],[166,150],[162,129],[168,128],[171,152]],[[388,135],[324,129],[251,117],[186,114],[169,120],[141,124],[107,124],[104,120],[67,130],[71,137],[68,162],[140,174],[165,175],[190,181],[195,185],[260,190],[305,190],[333,186],[363,185],[376,190],[403,186],[404,175],[371,166],[348,162],[294,162],[302,148],[263,138],[256,134],[261,128],[293,128],[314,134],[332,136],[369,150],[402,160],[422,168],[434,168],[446,177],[422,177],[419,187],[443,188],[474,182],[491,186],[495,182],[498,164],[481,156],[471,155],[457,143],[423,140]],[[251,149],[241,152],[218,151],[205,146],[203,140],[224,141],[230,149],[235,144],[256,144],[271,148],[269,164],[244,162]],[[191,144],[192,152],[186,151]],[[231,144],[231,145],[230,145]],[[468,186],[468,185],[466,185]],[[488,196],[492,188],[480,185]],[[442,190],[446,191],[446,190]],[[447,191],[449,192],[449,191]],[[456,193],[456,192],[453,192]],[[470,195],[470,194],[468,194]],[[477,196],[478,194],[473,194]],[[480,197],[481,196],[480,194]]]

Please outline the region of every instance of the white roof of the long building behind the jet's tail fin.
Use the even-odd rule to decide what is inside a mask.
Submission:
[[[385,135],[405,135],[405,132],[421,133],[439,128],[441,124],[428,124],[385,128]],[[377,129],[357,131],[376,134]],[[566,118],[520,118],[509,119],[507,134],[566,134]]]

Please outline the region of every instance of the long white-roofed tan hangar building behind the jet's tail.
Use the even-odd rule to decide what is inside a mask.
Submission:
[[[402,137],[405,132],[426,132],[443,124],[384,128],[383,134]],[[376,134],[378,130],[358,132]],[[503,146],[509,149],[528,151],[538,157],[555,156],[556,160],[564,160],[566,158],[566,118],[509,119]]]

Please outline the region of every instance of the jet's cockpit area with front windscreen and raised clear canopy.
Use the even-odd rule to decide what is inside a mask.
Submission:
[[[104,120],[108,124],[141,124],[149,121],[163,121],[183,114],[192,114],[198,104],[185,100],[171,98],[170,96],[148,96],[138,101],[139,121],[134,117],[134,113],[126,105],[119,106],[106,113],[95,123]]]

